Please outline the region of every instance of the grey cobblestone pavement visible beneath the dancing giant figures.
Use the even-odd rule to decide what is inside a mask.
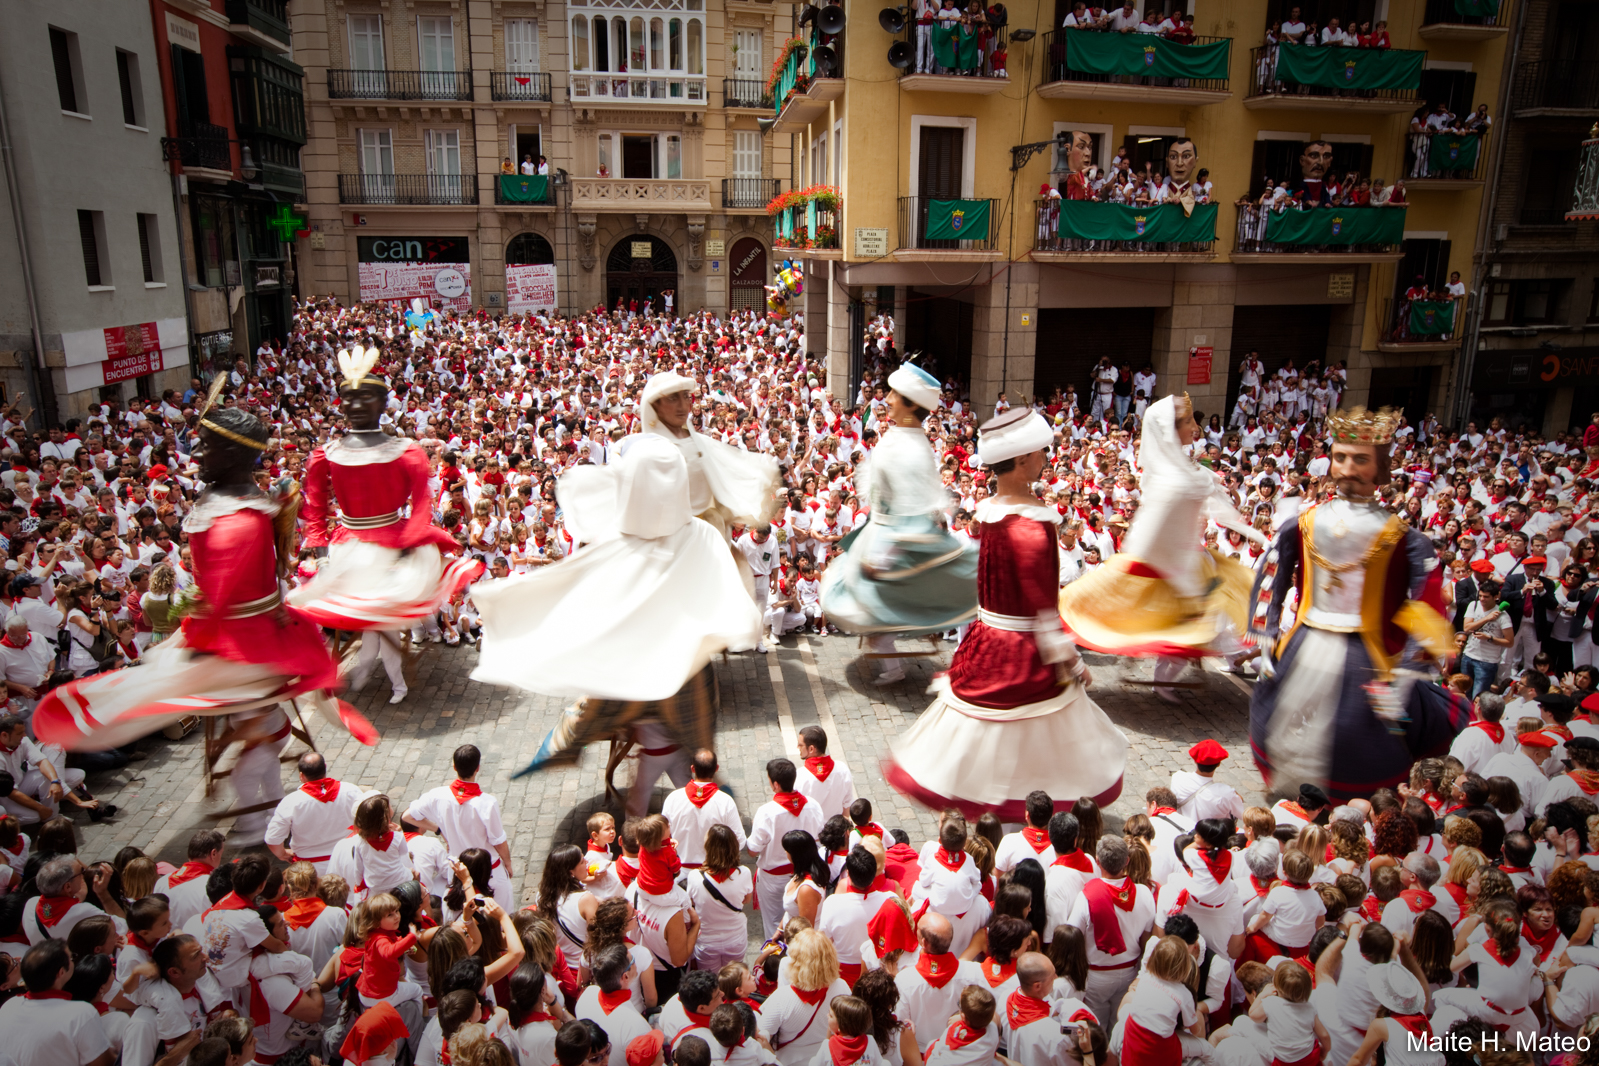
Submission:
[[[910,650],[911,642],[900,644]],[[919,644],[926,647],[926,644]],[[724,785],[737,798],[748,826],[755,798],[766,794],[764,764],[793,756],[793,730],[817,722],[828,730],[831,754],[843,758],[859,794],[873,801],[875,813],[889,828],[905,828],[913,842],[932,836],[934,812],[910,804],[883,782],[879,761],[889,743],[927,706],[927,681],[948,665],[953,644],[940,644],[935,658],[907,658],[908,678],[887,687],[870,684],[873,665],[860,658],[855,638],[790,636],[769,655],[747,652],[716,663],[721,684],[718,756]],[[1116,660],[1089,655],[1091,689],[1130,742],[1121,799],[1107,813],[1126,817],[1143,807],[1143,793],[1170,780],[1172,770],[1190,769],[1186,750],[1196,740],[1215,737],[1231,753],[1220,780],[1260,802],[1263,782],[1249,761],[1247,682],[1214,670],[1191,668],[1183,678],[1202,687],[1183,692],[1180,706],[1161,702],[1148,684],[1148,660]],[[582,842],[584,821],[608,809],[603,745],[590,746],[577,767],[510,780],[528,764],[564,703],[550,697],[478,684],[469,678],[477,649],[427,644],[408,660],[411,695],[389,705],[389,682],[377,671],[352,702],[382,730],[374,748],[363,748],[326,724],[312,721],[317,743],[328,756],[333,775],[365,788],[389,793],[397,809],[422,791],[453,777],[449,756],[457,745],[475,743],[483,751],[478,777],[484,791],[499,798],[512,842],[512,879],[528,900],[537,889],[544,857],[555,844]],[[189,836],[201,826],[230,826],[211,815],[232,801],[227,785],[206,801],[201,772],[201,730],[181,742],[160,735],[142,742],[147,758],[122,770],[94,774],[90,788],[122,807],[102,825],[78,818],[82,853],[109,858],[128,844],[171,863],[182,863]],[[285,754],[304,748],[291,743]],[[625,793],[630,766],[617,770]],[[297,785],[293,762],[283,766],[285,788]],[[654,809],[667,794],[662,778]],[[609,809],[620,813],[620,804]]]

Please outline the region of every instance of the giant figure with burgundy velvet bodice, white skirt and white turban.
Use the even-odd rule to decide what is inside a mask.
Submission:
[[[889,785],[929,807],[1022,821],[1033,790],[1062,810],[1121,794],[1127,738],[1087,695],[1087,666],[1057,609],[1060,516],[1031,492],[1052,440],[1028,409],[979,435],[999,492],[977,507],[977,620],[884,767]]]

